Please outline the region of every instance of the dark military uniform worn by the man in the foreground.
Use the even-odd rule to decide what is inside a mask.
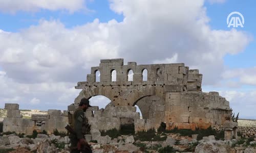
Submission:
[[[88,124],[88,121],[86,117],[84,117],[84,112],[81,109],[75,110],[72,119],[71,126],[73,127],[76,135],[71,133],[69,136],[71,142],[70,149],[71,153],[80,153],[80,150],[77,149],[77,143],[79,139],[84,138],[84,134],[86,134],[85,131],[87,130],[86,124]],[[81,152],[85,153],[86,151],[81,150]]]

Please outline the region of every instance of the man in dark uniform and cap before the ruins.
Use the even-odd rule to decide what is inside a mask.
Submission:
[[[72,117],[72,124],[74,128],[75,134],[70,134],[70,141],[71,141],[71,153],[90,153],[92,152],[90,145],[84,139],[84,128],[83,127],[87,121],[86,117],[84,117],[84,112],[91,107],[89,104],[89,100],[87,98],[82,98],[79,107],[75,110],[73,117]],[[88,124],[88,123],[87,123]]]

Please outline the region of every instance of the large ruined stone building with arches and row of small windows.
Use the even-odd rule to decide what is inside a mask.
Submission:
[[[116,76],[112,72],[116,71]],[[133,71],[133,81],[128,81],[129,71]],[[143,80],[143,70],[147,70],[147,80]],[[100,81],[96,82],[96,72]],[[116,81],[112,81],[112,78]],[[134,123],[135,131],[157,129],[161,122],[167,129],[206,129],[215,124],[223,124],[230,115],[229,102],[218,92],[202,92],[202,74],[197,69],[189,69],[183,63],[137,65],[123,59],[101,60],[99,66],[92,67],[87,82],[78,82],[76,89],[82,89],[72,111],[82,97],[103,95],[111,99],[105,109],[93,107],[86,116],[93,129],[119,129],[121,124]],[[137,105],[142,117],[136,112]]]

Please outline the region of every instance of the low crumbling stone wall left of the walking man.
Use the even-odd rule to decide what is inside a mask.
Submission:
[[[33,130],[46,130],[48,134],[51,134],[54,129],[66,132],[68,114],[62,114],[60,110],[48,110],[47,115],[32,114],[31,119],[26,119],[20,115],[18,104],[5,104],[5,109],[7,110],[7,117],[3,121],[3,132],[32,134]]]

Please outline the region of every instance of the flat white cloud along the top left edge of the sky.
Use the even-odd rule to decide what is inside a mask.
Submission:
[[[16,13],[17,11],[35,12],[40,9],[51,11],[67,10],[74,12],[84,9],[84,0],[0,0],[0,11],[7,13]]]

